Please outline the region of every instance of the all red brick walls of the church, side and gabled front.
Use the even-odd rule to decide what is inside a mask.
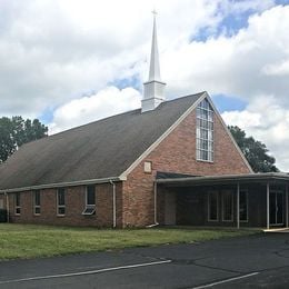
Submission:
[[[151,173],[143,171],[144,161],[151,161]],[[153,223],[153,180],[157,171],[199,176],[250,172],[216,116],[215,160],[213,162],[196,160],[196,112],[192,111],[127,176],[126,181],[117,183],[118,227],[143,227]],[[19,216],[14,215],[14,195],[10,193],[10,221],[112,227],[112,185],[96,185],[96,215],[92,216],[82,216],[84,191],[84,186],[66,188],[66,215],[61,217],[57,215],[57,189],[40,191],[40,216],[33,215],[32,191],[21,192],[21,213]]]

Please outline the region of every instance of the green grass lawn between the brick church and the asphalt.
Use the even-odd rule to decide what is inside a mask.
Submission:
[[[0,223],[0,260],[197,242],[250,233],[256,231],[186,228],[112,230]]]

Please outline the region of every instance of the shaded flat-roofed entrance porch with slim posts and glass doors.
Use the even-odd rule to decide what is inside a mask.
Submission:
[[[161,225],[289,228],[289,175],[250,173],[156,180]]]

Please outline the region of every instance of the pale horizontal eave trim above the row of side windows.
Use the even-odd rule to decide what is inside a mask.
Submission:
[[[110,182],[110,181],[124,181],[124,180],[127,180],[127,178],[124,178],[124,177],[111,177],[111,178],[102,178],[102,179],[47,183],[47,185],[37,185],[37,186],[31,186],[31,187],[4,189],[4,190],[0,190],[0,193],[17,192],[17,191],[31,191],[31,190],[41,190],[41,189],[52,189],[52,188],[61,188],[61,187],[77,187],[77,186],[83,186],[83,185],[106,183],[106,182]]]

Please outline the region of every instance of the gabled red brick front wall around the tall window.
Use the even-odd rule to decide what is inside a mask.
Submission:
[[[144,161],[152,172],[143,172]],[[192,111],[149,156],[137,166],[123,183],[123,226],[153,223],[153,180],[157,171],[189,175],[249,173],[220,120],[215,116],[215,160],[196,160],[196,111]],[[163,210],[163,206],[159,207]],[[161,213],[161,212],[159,212]]]

